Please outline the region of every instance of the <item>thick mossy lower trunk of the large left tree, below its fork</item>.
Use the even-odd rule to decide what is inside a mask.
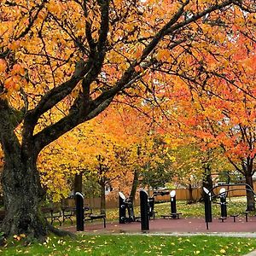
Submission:
[[[1,230],[7,236],[46,236],[48,223],[39,211],[44,190],[39,182],[35,158],[15,153],[5,154],[2,184],[6,216]]]

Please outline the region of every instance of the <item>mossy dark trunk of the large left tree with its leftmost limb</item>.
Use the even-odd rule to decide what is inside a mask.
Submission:
[[[27,137],[27,147],[21,147],[15,135],[14,111],[4,100],[0,101],[0,119],[0,142],[4,153],[1,182],[6,210],[1,230],[5,236],[44,237],[48,223],[39,206],[45,193],[40,184],[36,166],[38,155],[34,152],[33,141]]]

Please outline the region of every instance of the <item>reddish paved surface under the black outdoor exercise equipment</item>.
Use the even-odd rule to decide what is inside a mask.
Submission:
[[[65,230],[76,232],[75,226],[63,227]],[[98,234],[103,233],[141,233],[141,223],[132,222],[127,224],[119,224],[118,222],[108,222],[107,227],[103,228],[102,222],[94,222],[84,224],[85,232],[93,232]],[[163,219],[156,218],[149,221],[148,233],[215,233],[215,234],[242,234],[251,233],[252,236],[256,236],[256,217],[248,217],[248,222],[244,216],[236,218],[234,223],[233,218],[227,218],[222,222],[218,218],[213,218],[212,223],[209,223],[209,229],[204,218],[180,218],[180,219]],[[255,233],[255,234],[254,234]]]

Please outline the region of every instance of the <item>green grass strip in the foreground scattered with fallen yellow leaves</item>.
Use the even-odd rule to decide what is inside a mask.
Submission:
[[[21,241],[0,247],[0,255],[244,255],[256,248],[256,239],[216,236],[102,235],[51,237],[44,244],[24,247]]]

